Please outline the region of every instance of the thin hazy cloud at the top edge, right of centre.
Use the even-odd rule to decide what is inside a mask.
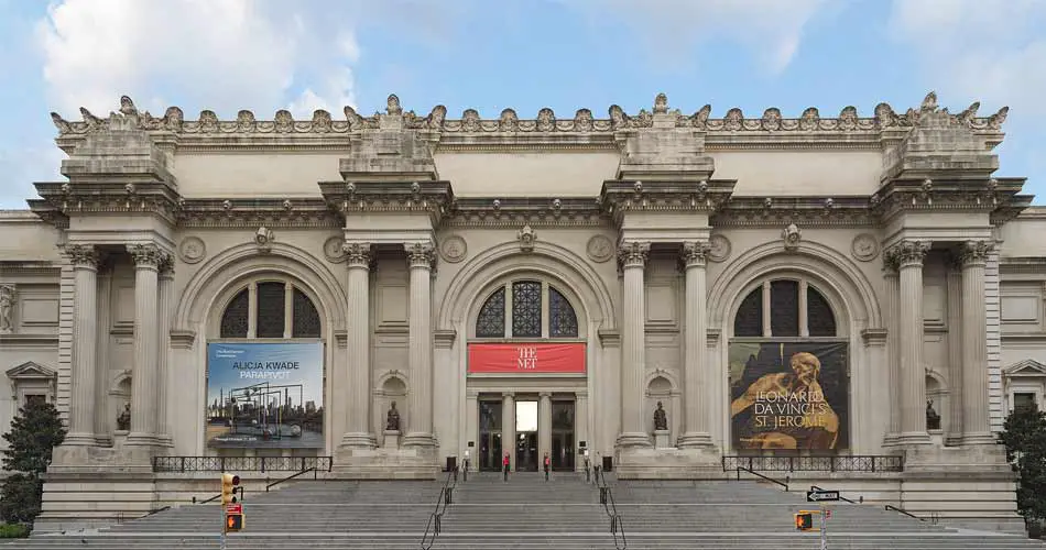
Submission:
[[[590,20],[619,20],[636,31],[657,61],[689,58],[700,42],[727,40],[781,73],[799,50],[807,24],[832,0],[562,0]],[[615,38],[617,40],[617,38]]]

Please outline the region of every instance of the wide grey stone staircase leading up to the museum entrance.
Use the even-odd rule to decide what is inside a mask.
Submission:
[[[614,506],[629,549],[800,550],[819,548],[817,534],[794,530],[793,514],[816,509],[800,495],[755,482],[615,481]],[[416,549],[440,482],[288,482],[244,502],[247,529],[230,550]],[[827,487],[830,488],[830,487]],[[833,504],[832,550],[1021,550],[1039,541],[963,531],[886,512]],[[0,543],[7,549],[216,550],[217,505],[186,505],[97,531],[40,535]],[[584,474],[514,473],[459,480],[433,549],[613,549],[610,519]],[[619,539],[618,543],[621,544]],[[620,547],[623,547],[621,544]]]

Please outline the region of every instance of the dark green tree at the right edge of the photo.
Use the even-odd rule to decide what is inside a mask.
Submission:
[[[1017,472],[1017,510],[1027,519],[1046,518],[1046,413],[1034,407],[1006,417],[1000,442]]]

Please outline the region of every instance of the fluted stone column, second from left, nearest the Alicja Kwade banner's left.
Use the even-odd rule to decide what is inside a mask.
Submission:
[[[160,370],[159,279],[167,253],[155,244],[129,244],[134,262],[134,365],[131,371],[131,446],[151,446],[156,440]]]

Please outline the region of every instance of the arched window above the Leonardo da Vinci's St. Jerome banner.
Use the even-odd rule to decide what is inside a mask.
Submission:
[[[835,338],[836,315],[825,295],[799,279],[772,279],[752,289],[733,318],[736,338]]]

